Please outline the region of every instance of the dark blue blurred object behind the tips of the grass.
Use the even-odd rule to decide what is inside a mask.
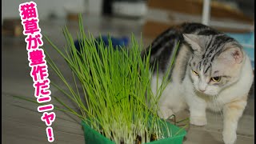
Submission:
[[[109,46],[109,38],[112,42],[112,46],[114,47],[114,49],[120,49],[121,47],[125,47],[125,46],[128,46],[129,44],[129,38],[127,37],[122,37],[122,38],[114,38],[114,37],[108,37],[108,36],[105,36],[103,35],[102,36],[102,42],[106,45],[106,46]],[[98,49],[98,43],[97,42],[100,42],[101,41],[101,38],[98,37],[98,38],[95,38],[96,42],[95,42],[95,45],[96,45],[96,48]],[[80,51],[81,47],[79,46],[79,42],[78,40],[74,41],[74,46],[77,48],[78,51]]]

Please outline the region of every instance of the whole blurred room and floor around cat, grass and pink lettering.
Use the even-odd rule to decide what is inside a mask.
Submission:
[[[25,36],[18,6],[25,0],[2,0],[2,143],[46,143],[46,125],[41,121],[37,105],[11,97],[25,95],[34,98],[30,77]],[[182,22],[202,22],[236,38],[244,46],[254,67],[254,0],[34,0],[37,3],[41,34],[56,46],[65,46],[64,26],[76,41],[78,14],[83,25],[98,38],[110,34],[114,41],[128,45],[133,33],[146,47],[170,26]],[[46,39],[44,47],[67,77],[65,61],[53,50]],[[49,70],[50,81],[58,78]],[[71,78],[71,77],[70,77]],[[59,84],[60,86],[62,84]],[[51,94],[58,90],[50,87]],[[52,100],[52,103],[55,104]],[[56,111],[54,143],[84,143],[83,131],[74,118]],[[188,115],[186,115],[188,116]],[[190,126],[186,144],[220,144],[222,117],[207,112],[208,125]],[[248,106],[238,126],[238,144],[254,143],[254,88]]]

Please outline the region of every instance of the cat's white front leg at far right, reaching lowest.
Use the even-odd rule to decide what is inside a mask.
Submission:
[[[247,97],[243,97],[234,102],[230,102],[223,107],[224,126],[223,126],[223,141],[225,144],[234,144],[237,139],[236,130],[238,127],[239,118],[241,118],[243,110],[246,108]]]

